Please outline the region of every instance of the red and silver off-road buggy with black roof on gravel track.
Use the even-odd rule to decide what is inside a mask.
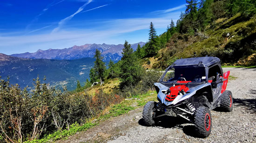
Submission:
[[[149,101],[144,106],[144,123],[155,125],[165,115],[181,117],[195,124],[199,137],[208,137],[212,127],[210,111],[219,107],[231,112],[233,108],[232,93],[226,90],[229,73],[222,73],[217,57],[176,60],[155,83],[159,102]]]

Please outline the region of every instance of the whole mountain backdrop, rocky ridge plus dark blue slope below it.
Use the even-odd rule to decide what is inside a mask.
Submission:
[[[140,42],[131,44],[133,50]],[[37,50],[34,53],[5,55],[0,53],[0,76],[2,79],[10,77],[10,84],[16,83],[20,87],[33,87],[33,79],[37,76],[49,86],[67,86],[67,90],[76,88],[77,80],[81,82],[89,79],[90,69],[94,66],[95,50],[101,51],[103,61],[107,64],[111,59],[117,62],[122,57],[122,44],[85,44],[65,49]],[[43,81],[46,76],[46,81]]]

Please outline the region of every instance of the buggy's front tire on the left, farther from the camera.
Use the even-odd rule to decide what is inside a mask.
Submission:
[[[155,120],[153,118],[153,109],[155,109],[156,102],[154,101],[148,101],[146,105],[144,106],[142,118],[144,123],[147,126],[153,126],[155,124]]]

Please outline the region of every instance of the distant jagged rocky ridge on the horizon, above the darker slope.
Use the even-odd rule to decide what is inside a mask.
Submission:
[[[133,50],[137,49],[138,44],[141,46],[145,45],[144,42],[139,42],[136,44],[131,44]],[[55,60],[74,60],[81,59],[85,57],[93,58],[95,50],[98,49],[101,51],[102,56],[104,57],[103,61],[119,61],[122,57],[123,44],[85,44],[81,46],[74,45],[71,48],[65,49],[48,49],[48,50],[37,50],[34,53],[21,53],[13,54],[10,56],[30,58],[30,59],[55,59]]]

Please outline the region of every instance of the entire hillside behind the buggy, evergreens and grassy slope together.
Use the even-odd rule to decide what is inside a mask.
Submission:
[[[160,36],[150,25],[149,42],[137,50],[148,68],[166,68],[178,58],[216,56],[228,65],[256,64],[254,0],[186,0],[176,26]],[[152,34],[153,33],[153,34]],[[150,36],[154,35],[154,36]],[[149,59],[149,60],[148,60]]]

